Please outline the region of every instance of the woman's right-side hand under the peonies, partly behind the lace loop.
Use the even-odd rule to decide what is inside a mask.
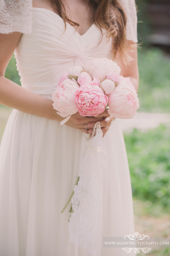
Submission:
[[[101,127],[103,137],[104,137],[104,135],[106,134],[106,132],[108,131],[108,129],[111,125],[111,122],[115,119],[115,117],[112,117],[110,114],[108,114],[107,110],[104,110],[103,113],[99,114],[95,118],[98,118],[98,117],[102,117],[102,120],[100,121],[100,127]],[[89,129],[88,133],[92,134],[93,127],[95,126],[96,122],[90,122],[87,124],[87,128]]]

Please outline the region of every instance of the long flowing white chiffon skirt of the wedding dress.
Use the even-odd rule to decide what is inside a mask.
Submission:
[[[13,110],[0,147],[0,256],[89,256],[69,241],[70,213],[61,213],[77,179],[82,132]],[[103,138],[103,220],[97,256],[127,255],[103,237],[134,234],[131,180],[117,119]],[[128,255],[136,255],[129,253]]]

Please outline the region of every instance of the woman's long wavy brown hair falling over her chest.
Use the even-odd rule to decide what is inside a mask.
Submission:
[[[78,23],[70,20],[66,16],[66,10],[61,0],[50,0],[51,5],[55,11],[64,20],[65,28],[66,22],[72,26],[79,26]],[[123,57],[124,62],[130,60],[127,49],[128,44],[126,40],[126,14],[117,0],[86,0],[94,10],[93,22],[100,28],[107,30],[108,38],[112,38],[112,56],[116,57],[117,52]]]

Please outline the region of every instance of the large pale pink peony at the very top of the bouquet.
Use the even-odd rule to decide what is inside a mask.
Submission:
[[[91,75],[92,79],[97,79],[98,84],[106,79],[108,73],[114,72],[119,75],[121,71],[116,62],[107,58],[92,59],[85,63],[83,68],[85,72],[88,72]]]

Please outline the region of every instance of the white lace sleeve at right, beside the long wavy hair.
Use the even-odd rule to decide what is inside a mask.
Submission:
[[[119,0],[119,2],[127,16],[126,38],[137,43],[137,10],[135,0]]]

